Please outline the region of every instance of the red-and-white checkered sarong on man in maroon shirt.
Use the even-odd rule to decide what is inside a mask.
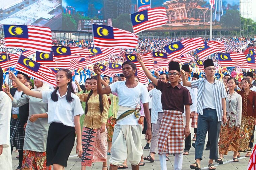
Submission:
[[[183,130],[182,112],[164,110],[158,136],[158,154],[182,154]]]

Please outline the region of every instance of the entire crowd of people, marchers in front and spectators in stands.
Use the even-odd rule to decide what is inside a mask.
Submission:
[[[250,157],[256,125],[255,73],[242,69],[218,73],[215,56],[204,60],[201,75],[193,70],[193,61],[171,61],[159,72],[146,68],[140,55],[164,52],[162,46],[180,40],[183,38],[143,39],[137,50],[121,49],[120,55],[108,58],[108,62],[122,64],[122,73],[111,78],[102,76],[96,65],[84,70],[88,75],[77,81],[75,73],[61,69],[56,87],[38,79],[32,83],[23,72],[8,72],[10,88],[0,68],[0,167],[12,169],[15,147],[19,153],[17,169],[64,169],[76,142],[82,170],[93,162],[102,162],[102,170],[125,169],[127,160],[136,170],[145,165],[144,160],[154,162],[155,154],[159,155],[161,170],[167,170],[168,155],[175,155],[174,169],[181,170],[183,155],[189,155],[191,148],[191,128],[196,160],[191,169],[200,170],[207,133],[209,169],[216,169],[214,161],[223,164],[228,151],[233,151],[234,163],[239,162],[241,153]],[[225,44],[226,52],[244,52],[251,43],[251,39],[236,37],[216,40]],[[53,40],[53,45],[63,46],[90,47],[92,43]],[[0,52],[4,51],[0,39]],[[137,60],[150,80],[147,86],[135,76],[136,65],[125,61],[124,54],[133,53],[138,54]],[[142,134],[147,140],[144,148],[150,149],[146,157]]]

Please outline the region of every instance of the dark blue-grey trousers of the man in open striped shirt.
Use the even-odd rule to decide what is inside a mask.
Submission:
[[[195,141],[195,159],[202,160],[203,148],[207,130],[210,134],[210,159],[218,159],[218,138],[221,121],[218,121],[217,112],[213,109],[204,109],[203,115],[198,115],[197,133]],[[209,140],[209,139],[208,139]]]

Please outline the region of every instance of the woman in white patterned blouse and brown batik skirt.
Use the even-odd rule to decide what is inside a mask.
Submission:
[[[227,123],[222,123],[221,126],[219,141],[220,158],[215,160],[215,162],[219,164],[223,164],[223,155],[227,155],[228,151],[234,152],[233,162],[239,162],[237,152],[239,147],[239,132],[241,127],[243,101],[241,95],[235,92],[235,78],[228,78],[227,86]]]

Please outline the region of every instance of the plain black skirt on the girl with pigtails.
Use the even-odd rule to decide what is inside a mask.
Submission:
[[[62,123],[51,123],[46,143],[46,166],[59,164],[67,167],[68,157],[74,143],[74,127]]]

